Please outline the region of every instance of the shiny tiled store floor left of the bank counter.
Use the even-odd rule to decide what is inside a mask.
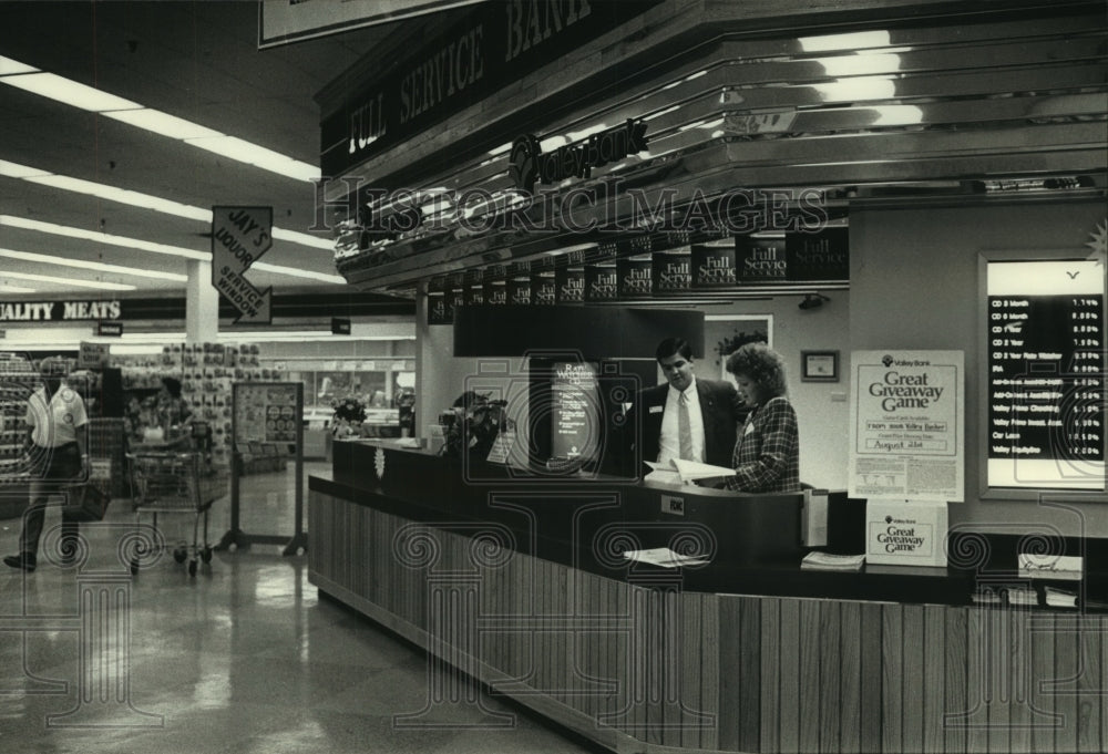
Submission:
[[[291,475],[248,478],[242,528],[290,533]],[[212,518],[215,541],[225,503]],[[302,556],[217,551],[191,578],[165,554],[132,577],[123,500],[82,527],[83,565],[61,568],[49,561],[58,521],[49,512],[33,574],[0,571],[0,752],[595,751],[484,695],[510,726],[482,726],[473,704],[428,709],[425,657],[320,600]],[[19,526],[0,521],[0,552],[16,551]],[[160,519],[171,543],[174,528],[191,538],[188,516]],[[397,717],[423,710],[413,726]]]

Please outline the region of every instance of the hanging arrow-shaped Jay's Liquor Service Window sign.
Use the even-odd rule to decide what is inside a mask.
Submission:
[[[246,270],[273,247],[273,207],[212,207],[212,285],[236,310],[238,322],[273,321],[273,288],[259,291]]]

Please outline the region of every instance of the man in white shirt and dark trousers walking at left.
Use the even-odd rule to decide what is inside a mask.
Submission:
[[[43,359],[39,369],[42,386],[28,400],[27,422],[30,432],[28,457],[31,471],[30,502],[23,514],[19,554],[3,561],[12,568],[33,571],[39,538],[45,520],[47,500],[59,486],[81,475],[89,463],[84,401],[69,385],[63,385],[66,364],[63,359]],[[62,557],[73,552],[78,525],[62,521]]]

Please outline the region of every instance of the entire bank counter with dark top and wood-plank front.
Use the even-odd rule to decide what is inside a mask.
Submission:
[[[972,605],[974,572],[800,569],[802,495],[535,477],[388,441],[309,479],[309,580],[618,752],[1102,751],[1102,616]],[[663,568],[625,550],[708,562]],[[1106,648],[1108,649],[1108,648]]]

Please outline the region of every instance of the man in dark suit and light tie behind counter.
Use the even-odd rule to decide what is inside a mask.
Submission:
[[[629,426],[640,438],[640,461],[699,461],[730,468],[736,428],[746,411],[735,385],[698,380],[693,348],[680,338],[667,338],[655,351],[666,384],[647,388],[632,406]]]

